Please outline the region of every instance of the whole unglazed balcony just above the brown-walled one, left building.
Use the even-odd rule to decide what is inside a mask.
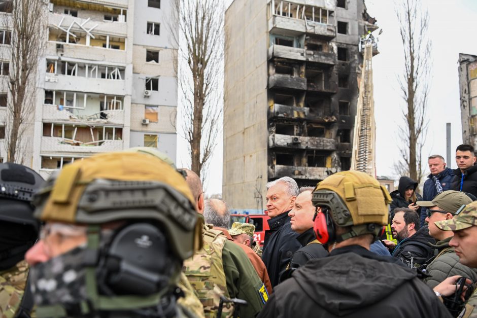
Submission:
[[[124,97],[45,90],[43,119],[124,124]]]

